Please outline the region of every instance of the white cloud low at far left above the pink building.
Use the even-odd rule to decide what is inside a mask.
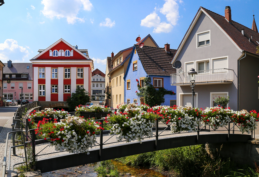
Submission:
[[[28,58],[29,51],[26,49],[29,47],[22,47],[18,45],[18,42],[13,39],[6,39],[4,43],[0,43],[0,60],[6,63],[8,60],[13,62],[24,62],[25,58]]]

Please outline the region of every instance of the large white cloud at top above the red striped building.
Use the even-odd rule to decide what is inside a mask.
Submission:
[[[76,21],[84,22],[83,18],[77,17],[81,6],[83,6],[83,10],[88,11],[93,8],[89,0],[70,0],[69,3],[66,0],[42,0],[41,3],[44,5],[44,9],[41,11],[44,16],[51,19],[54,17],[66,18],[69,24],[74,24]]]

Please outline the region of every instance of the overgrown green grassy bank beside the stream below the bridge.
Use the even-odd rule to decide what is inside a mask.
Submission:
[[[256,169],[239,167],[230,159],[208,156],[205,145],[148,152],[115,159],[131,166],[157,169],[169,176],[256,176]],[[244,170],[238,170],[244,169]],[[258,169],[258,168],[257,168]],[[257,171],[259,172],[259,171]],[[240,174],[242,173],[242,174]]]

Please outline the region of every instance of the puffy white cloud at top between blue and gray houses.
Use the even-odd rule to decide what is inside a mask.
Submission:
[[[167,22],[161,22],[160,17],[157,14],[157,8],[154,8],[154,12],[150,13],[145,19],[141,20],[141,26],[154,27],[154,33],[165,32],[168,33],[173,29],[173,25],[177,24],[179,18],[178,3],[183,3],[182,0],[165,0],[163,7],[160,9],[160,13],[166,15]]]

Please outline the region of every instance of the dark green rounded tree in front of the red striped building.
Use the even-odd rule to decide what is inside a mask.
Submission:
[[[75,93],[72,93],[71,97],[67,99],[69,111],[73,112],[76,106],[80,104],[85,105],[89,101],[90,101],[89,93],[85,89],[78,87],[75,90]]]

